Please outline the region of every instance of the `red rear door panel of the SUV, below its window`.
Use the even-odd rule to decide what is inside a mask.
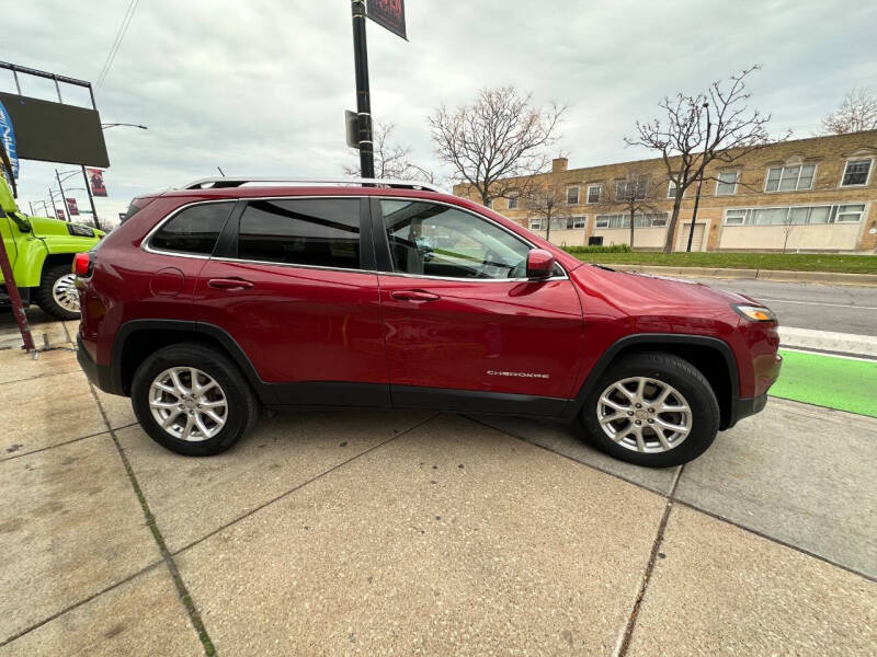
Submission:
[[[231,277],[253,287],[228,293],[208,285]],[[193,306],[267,383],[387,383],[377,274],[209,261]]]

